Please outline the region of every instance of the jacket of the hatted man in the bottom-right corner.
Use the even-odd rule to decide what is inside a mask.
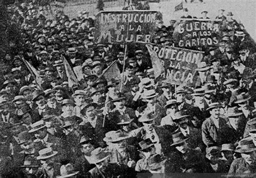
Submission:
[[[239,173],[256,173],[256,168],[248,165],[244,158],[238,158],[232,162],[228,174]]]

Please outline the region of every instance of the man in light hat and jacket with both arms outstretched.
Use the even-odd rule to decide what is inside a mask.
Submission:
[[[136,130],[130,132],[131,137],[136,137],[138,140],[149,138],[156,147],[157,153],[166,153],[170,149],[171,134],[178,129],[177,126],[164,125],[155,126],[154,119],[156,116],[153,112],[145,112],[138,121],[143,124]]]

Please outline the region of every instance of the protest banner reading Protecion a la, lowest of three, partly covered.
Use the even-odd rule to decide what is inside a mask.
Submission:
[[[198,63],[204,52],[163,45],[150,45],[164,66],[161,77],[172,84],[193,83]]]

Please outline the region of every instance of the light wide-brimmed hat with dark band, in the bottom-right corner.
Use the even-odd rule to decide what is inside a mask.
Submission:
[[[250,153],[254,151],[256,151],[256,147],[250,137],[240,140],[237,148],[235,148],[235,152],[238,153]]]

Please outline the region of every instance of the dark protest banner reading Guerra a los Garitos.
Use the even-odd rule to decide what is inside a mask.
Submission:
[[[182,19],[173,32],[176,46],[197,48],[215,46],[219,42],[220,21],[210,19]]]

